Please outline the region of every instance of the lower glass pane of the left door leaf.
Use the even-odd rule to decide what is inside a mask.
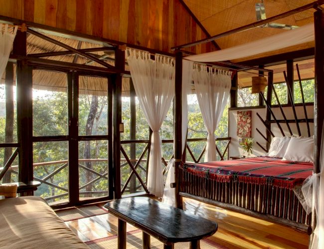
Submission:
[[[34,180],[42,182],[34,195],[48,203],[67,202],[68,194],[68,142],[34,142]]]

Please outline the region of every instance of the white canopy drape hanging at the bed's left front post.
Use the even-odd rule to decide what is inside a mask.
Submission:
[[[187,96],[191,91],[191,82],[192,82],[192,61],[182,60],[182,151],[185,149],[185,140],[187,135],[188,128],[188,102]],[[170,188],[170,183],[175,182],[174,177],[174,159],[172,158],[166,167],[166,180],[164,186],[164,193],[162,202],[170,206],[175,207],[175,188]]]

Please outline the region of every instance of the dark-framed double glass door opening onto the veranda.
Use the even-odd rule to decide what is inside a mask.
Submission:
[[[35,195],[51,205],[112,199],[108,78],[33,70]]]

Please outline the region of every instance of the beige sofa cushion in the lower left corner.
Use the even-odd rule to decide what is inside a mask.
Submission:
[[[0,200],[0,248],[88,248],[44,199],[36,196]]]

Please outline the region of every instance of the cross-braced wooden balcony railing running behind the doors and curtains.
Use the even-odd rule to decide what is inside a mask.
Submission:
[[[192,149],[190,147],[190,143],[192,142],[203,142],[206,141],[206,138],[189,138],[187,139],[187,144],[186,144],[186,153],[187,153],[187,158],[191,158],[192,162],[198,163],[200,162],[205,150],[206,150],[206,145],[203,146],[202,150],[199,153],[199,156],[194,156],[194,153],[192,152]],[[224,157],[226,155],[226,152],[228,152],[228,147],[229,147],[229,143],[230,143],[231,138],[230,137],[222,137],[222,138],[216,138],[215,141],[224,141],[225,144],[223,144],[222,148],[220,148],[220,146],[217,144],[215,144],[215,149],[217,151],[217,154],[220,158],[220,160],[224,160]],[[130,156],[127,154],[124,146],[127,144],[144,144],[145,146],[144,149],[141,151],[140,156],[136,159],[131,159]],[[162,144],[167,144],[167,143],[173,143],[173,140],[162,140]],[[147,189],[147,168],[148,168],[148,164],[149,164],[149,157],[150,157],[150,145],[151,142],[150,140],[124,140],[121,141],[121,153],[124,156],[124,158],[121,158],[121,169],[123,168],[130,168],[130,171],[128,171],[127,173],[125,173],[125,175],[123,176],[127,176],[127,179],[124,183],[122,183],[122,194],[128,192],[128,193],[133,193],[138,192],[138,191],[145,191],[146,193],[149,193],[148,189]],[[221,150],[223,150],[221,152]],[[9,172],[12,174],[18,174],[18,166],[17,165],[10,165],[14,159],[14,157],[17,155],[17,150],[14,151],[14,153],[12,154],[12,158],[8,160],[7,164],[0,168],[1,174],[4,174],[5,171],[7,171],[9,169]],[[197,157],[197,158],[196,158]],[[170,158],[164,158],[162,157],[162,162],[164,164],[164,170],[163,170],[163,174],[165,173],[165,169],[167,166],[167,163],[170,159],[173,158],[173,154],[170,156]],[[191,159],[189,159],[191,161]],[[82,186],[79,187],[79,191],[80,191],[80,195],[85,195],[85,196],[91,196],[94,194],[107,194],[108,195],[108,185],[107,185],[107,190],[93,190],[93,191],[86,191],[86,187],[88,186],[94,186],[95,183],[97,183],[99,180],[101,179],[106,179],[107,181],[109,180],[108,177],[108,167],[107,164],[105,164],[106,166],[106,170],[104,170],[104,172],[98,172],[94,169],[88,168],[86,166],[84,166],[82,164],[82,162],[93,162],[93,163],[98,163],[98,162],[107,162],[108,163],[108,159],[79,159],[79,168],[83,169],[87,172],[90,172],[93,174],[93,179],[89,182],[84,183]],[[48,166],[57,166],[52,172],[49,172],[46,175],[43,175],[42,177],[37,177],[34,176],[34,180],[35,181],[39,181],[42,184],[45,184],[51,188],[53,188],[54,190],[59,190],[63,193],[54,193],[54,190],[52,191],[52,195],[51,196],[47,196],[44,199],[47,201],[57,201],[61,198],[67,197],[68,196],[68,188],[65,187],[64,185],[67,185],[67,183],[65,184],[61,184],[58,182],[55,182],[54,180],[54,176],[59,174],[60,172],[62,172],[62,170],[64,170],[67,166],[68,166],[68,160],[60,160],[60,161],[50,161],[50,162],[40,162],[40,163],[34,163],[33,167],[36,169],[38,167],[48,167]],[[46,172],[46,171],[45,171]],[[129,173],[129,175],[127,175]],[[135,177],[138,179],[139,184],[135,186],[134,188],[130,188],[128,185],[132,180],[133,175],[135,175]],[[67,182],[67,175],[66,175],[66,182]],[[142,190],[141,190],[142,189]],[[82,191],[83,190],[83,191]]]

